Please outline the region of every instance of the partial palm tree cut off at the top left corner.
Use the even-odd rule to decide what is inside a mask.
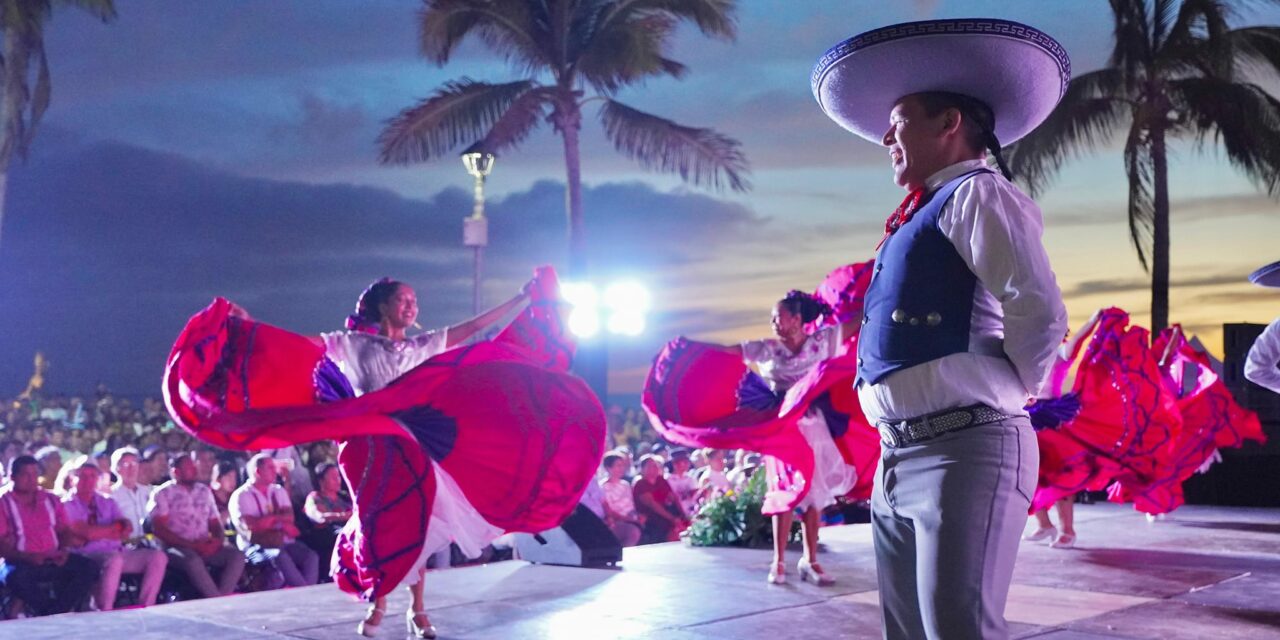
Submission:
[[[17,154],[26,159],[31,141],[36,136],[52,84],[49,78],[49,59],[45,56],[45,23],[54,13],[54,5],[74,6],[93,14],[102,22],[115,18],[113,0],[8,0],[0,4],[0,78],[4,97],[0,102],[0,229],[4,227],[4,200],[9,183],[9,165]],[[31,86],[35,72],[36,86]]]

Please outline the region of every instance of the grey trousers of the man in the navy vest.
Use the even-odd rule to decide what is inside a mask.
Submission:
[[[1012,417],[881,452],[872,531],[888,640],[1000,640],[1039,449]]]

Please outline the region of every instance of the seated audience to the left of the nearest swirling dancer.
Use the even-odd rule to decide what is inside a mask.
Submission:
[[[248,457],[198,443],[159,399],[105,387],[3,406],[0,616],[328,580],[352,511],[333,443]]]

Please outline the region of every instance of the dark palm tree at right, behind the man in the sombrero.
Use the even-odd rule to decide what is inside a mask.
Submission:
[[[1128,125],[1129,236],[1151,273],[1156,335],[1169,325],[1169,140],[1221,143],[1256,186],[1280,195],[1280,101],[1256,83],[1280,72],[1280,28],[1230,28],[1226,0],[1110,1],[1107,67],[1071,81],[1044,124],[1014,145],[1010,166],[1036,195],[1068,157]]]

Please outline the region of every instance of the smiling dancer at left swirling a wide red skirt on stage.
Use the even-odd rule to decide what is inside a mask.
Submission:
[[[543,269],[503,305],[408,337],[416,294],[384,279],[361,294],[349,330],[320,338],[252,321],[219,300],[178,338],[165,399],[179,425],[219,447],[338,439],[355,515],[334,579],[374,603],[358,632],[378,631],[387,594],[406,584],[410,634],[434,637],[425,559],[451,543],[475,556],[503,531],[559,525],[603,453],[604,413],[567,372],[573,346],[557,296]],[[530,307],[498,337],[451,349],[525,300]]]

